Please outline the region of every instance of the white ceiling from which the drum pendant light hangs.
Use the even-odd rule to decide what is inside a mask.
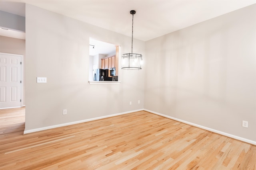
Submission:
[[[0,0],[0,10],[25,16],[24,3],[50,10],[142,41],[177,31],[256,0]]]

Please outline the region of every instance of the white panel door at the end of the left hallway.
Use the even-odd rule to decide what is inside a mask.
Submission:
[[[0,109],[21,107],[21,58],[0,53]]]

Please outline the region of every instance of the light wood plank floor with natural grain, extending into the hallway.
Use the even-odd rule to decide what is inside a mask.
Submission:
[[[27,135],[22,114],[0,110],[1,170],[256,169],[256,146],[146,111]]]

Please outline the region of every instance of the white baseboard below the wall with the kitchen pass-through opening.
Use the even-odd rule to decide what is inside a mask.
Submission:
[[[106,116],[95,117],[95,118],[91,118],[91,119],[85,119],[85,120],[80,120],[80,121],[73,121],[73,122],[68,122],[68,123],[62,123],[62,124],[52,125],[52,126],[47,126],[47,127],[40,127],[40,128],[36,128],[36,129],[30,129],[30,130],[26,130],[26,127],[25,127],[24,134],[38,132],[38,131],[44,131],[44,130],[53,129],[53,128],[56,128],[56,127],[74,125],[74,124],[78,124],[78,123],[84,123],[84,122],[88,122],[88,121],[94,121],[94,120],[98,120],[98,119],[104,119],[104,118],[108,118],[108,117],[114,117],[114,116],[118,116],[118,115],[124,115],[124,114],[127,114],[127,113],[132,113],[132,112],[142,111],[142,110],[144,110],[144,109],[138,109],[138,110],[133,110],[133,111],[126,111],[126,112],[112,114],[112,115],[106,115]]]

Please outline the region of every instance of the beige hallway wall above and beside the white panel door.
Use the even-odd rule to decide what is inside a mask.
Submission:
[[[11,37],[0,36],[0,52],[1,53],[10,53],[10,54],[19,54],[23,55],[23,102],[25,105],[25,80],[26,80],[26,72],[25,72],[25,60],[26,60],[26,49],[25,49],[25,40],[17,39]]]

